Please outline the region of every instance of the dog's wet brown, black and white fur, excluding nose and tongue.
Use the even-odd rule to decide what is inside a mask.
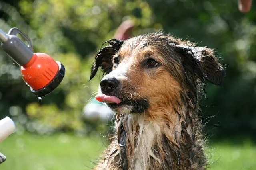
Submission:
[[[212,49],[160,32],[106,43],[90,79],[101,68],[102,80],[118,80],[114,90],[98,93],[122,102],[108,103],[116,133],[95,169],[206,168],[198,103],[204,84],[221,85],[225,74]]]

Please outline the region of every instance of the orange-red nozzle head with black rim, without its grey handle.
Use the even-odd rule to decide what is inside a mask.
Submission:
[[[20,72],[34,94],[45,96],[60,84],[65,68],[45,53],[34,53],[30,61],[21,66]]]

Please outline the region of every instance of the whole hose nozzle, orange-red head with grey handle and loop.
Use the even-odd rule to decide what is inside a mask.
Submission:
[[[28,47],[16,36],[20,34]],[[33,53],[30,39],[18,28],[9,30],[8,35],[0,29],[2,49],[21,66],[23,80],[37,96],[46,96],[62,81],[64,66],[45,53]]]

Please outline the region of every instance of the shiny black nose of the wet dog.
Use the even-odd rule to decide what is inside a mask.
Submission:
[[[116,78],[108,78],[100,82],[101,91],[104,93],[113,92],[118,85],[119,81]]]

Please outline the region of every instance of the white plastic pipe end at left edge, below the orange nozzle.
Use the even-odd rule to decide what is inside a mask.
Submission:
[[[10,117],[0,120],[0,142],[16,131],[16,127]]]

